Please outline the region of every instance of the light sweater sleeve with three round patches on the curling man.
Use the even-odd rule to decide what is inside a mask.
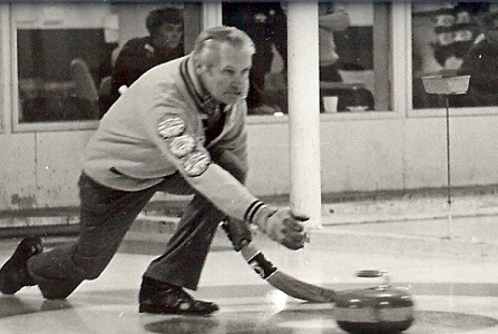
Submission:
[[[247,208],[257,198],[212,161],[204,138],[195,131],[196,118],[188,115],[188,109],[179,101],[177,104],[156,104],[144,115],[153,143],[195,190],[226,215],[244,219]]]

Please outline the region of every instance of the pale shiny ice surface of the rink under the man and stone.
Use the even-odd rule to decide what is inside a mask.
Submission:
[[[472,223],[480,218],[461,219]],[[368,236],[358,238],[349,249],[334,249],[335,238],[328,237],[334,228],[325,226],[297,252],[261,235],[254,243],[282,272],[334,289],[382,283],[381,278],[355,277],[359,269],[389,271],[391,284],[409,288],[414,302],[416,321],[404,333],[498,333],[498,257],[438,256],[437,252],[429,256],[417,254],[417,246],[410,243],[407,246],[413,252],[406,254],[390,250],[389,243],[380,252],[363,252],[361,244],[369,243]],[[389,229],[360,225],[351,229],[385,234],[383,228]],[[496,243],[497,230],[480,233]],[[102,275],[85,282],[66,301],[43,301],[37,287],[0,296],[0,333],[344,333],[333,320],[333,304],[305,303],[276,291],[231,249],[225,238],[219,233],[216,236],[199,289],[192,292],[197,298],[219,304],[221,310],[212,316],[139,314],[141,273],[162,246],[157,242],[125,240]],[[0,240],[1,263],[17,242]],[[61,242],[65,239],[46,238],[45,247]]]

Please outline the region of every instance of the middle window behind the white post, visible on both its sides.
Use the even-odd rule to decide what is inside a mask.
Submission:
[[[335,111],[390,109],[389,7],[319,3],[321,112],[323,101]],[[285,9],[280,2],[223,3],[223,23],[246,31],[256,45],[251,115],[287,112]]]

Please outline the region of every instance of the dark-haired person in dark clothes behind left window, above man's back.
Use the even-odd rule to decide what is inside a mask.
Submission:
[[[147,14],[149,36],[134,38],[120,50],[110,77],[110,97],[102,112],[117,100],[119,88],[129,87],[153,67],[184,56],[184,19],[176,8],[155,9]]]

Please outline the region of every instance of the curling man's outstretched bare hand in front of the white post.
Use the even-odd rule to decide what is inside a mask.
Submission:
[[[256,214],[255,224],[267,236],[290,249],[300,249],[304,246],[303,223],[307,217],[294,216],[290,208],[263,207]]]

